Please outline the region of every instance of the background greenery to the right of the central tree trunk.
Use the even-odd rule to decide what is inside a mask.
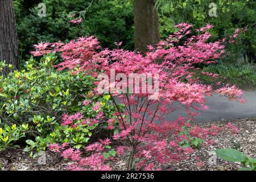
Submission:
[[[216,1],[217,17],[210,17],[209,1],[170,1],[158,0],[160,8],[160,23],[162,38],[174,32],[172,26],[180,22],[193,24],[196,28],[204,26],[205,23],[214,24],[211,42],[222,39],[239,28],[247,27],[246,34],[238,36],[236,45],[230,44],[226,47],[230,55],[225,61],[230,63],[253,63],[256,59],[256,2],[249,1]],[[168,22],[167,24],[163,22]],[[246,60],[247,59],[247,60]]]

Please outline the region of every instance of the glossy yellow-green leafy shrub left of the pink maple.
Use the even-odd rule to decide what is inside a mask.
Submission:
[[[114,109],[108,97],[90,96],[95,78],[83,73],[55,71],[54,62],[55,55],[45,55],[39,63],[31,57],[24,69],[0,77],[0,126],[6,128],[1,130],[1,142],[9,145],[24,137],[21,129],[26,128],[29,147],[25,151],[45,150],[49,143],[55,142],[80,148],[94,131],[104,127],[85,119],[112,117]],[[4,62],[1,65],[6,66]],[[94,110],[96,105],[100,105],[100,109]],[[61,125],[64,113],[72,114],[73,125]],[[84,118],[79,117],[81,115]],[[17,127],[9,130],[10,126]]]

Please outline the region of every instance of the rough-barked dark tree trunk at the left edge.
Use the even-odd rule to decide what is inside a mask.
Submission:
[[[0,60],[19,67],[18,36],[13,0],[0,0]]]

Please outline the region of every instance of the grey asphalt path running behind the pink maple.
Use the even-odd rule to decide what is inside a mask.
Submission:
[[[228,98],[214,94],[212,97],[206,97],[208,110],[196,111],[200,115],[195,117],[194,122],[209,122],[231,119],[256,118],[256,91],[245,92],[243,98],[244,104],[237,101],[229,101]],[[178,105],[177,105],[178,106]],[[187,113],[184,109],[177,109],[167,116],[168,120],[173,120],[179,115],[184,116]]]

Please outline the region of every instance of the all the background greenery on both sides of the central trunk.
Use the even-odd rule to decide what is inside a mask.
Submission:
[[[102,47],[114,48],[114,42],[123,42],[123,48],[133,50],[133,5],[130,1],[33,1],[15,0],[15,13],[18,23],[20,56],[28,59],[32,44],[38,42],[68,42],[79,36],[95,35]],[[38,16],[38,3],[47,6],[47,17]],[[160,2],[160,1],[159,1]],[[227,49],[230,62],[241,62],[241,56],[247,61],[254,61],[255,43],[255,2],[236,1],[224,5],[220,1],[218,17],[208,16],[208,1],[190,1],[174,3],[173,6],[162,6],[159,9],[160,36],[162,39],[175,32],[173,26],[181,22],[193,24],[196,28],[205,23],[215,25],[211,41],[222,39],[237,28],[248,26],[247,33],[237,39],[237,46],[229,45]],[[89,8],[88,8],[89,7]],[[175,7],[175,8],[174,8]],[[228,8],[225,8],[228,7]],[[171,9],[170,9],[171,8]],[[86,10],[86,11],[85,11]],[[222,12],[223,11],[223,12]],[[68,15],[76,13],[84,16],[79,26],[69,22]],[[27,56],[26,56],[27,55]],[[240,61],[238,61],[240,60]]]

